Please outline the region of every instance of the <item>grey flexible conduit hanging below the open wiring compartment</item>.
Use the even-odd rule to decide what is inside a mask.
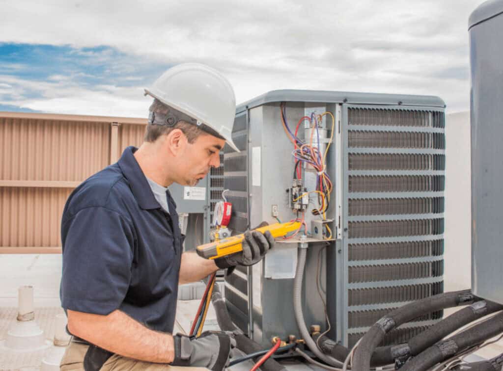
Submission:
[[[295,320],[297,321],[297,326],[299,327],[300,334],[304,339],[306,345],[309,349],[323,362],[328,363],[333,366],[342,366],[342,362],[335,358],[332,358],[326,354],[323,354],[321,350],[318,349],[316,343],[311,338],[309,331],[307,330],[306,323],[304,321],[304,314],[302,313],[302,280],[304,277],[304,267],[306,265],[306,255],[307,248],[300,247],[299,245],[299,257],[297,260],[297,270],[295,272],[295,279],[293,281],[293,311],[295,313]]]

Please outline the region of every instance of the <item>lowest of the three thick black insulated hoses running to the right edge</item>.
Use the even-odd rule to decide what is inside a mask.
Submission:
[[[401,371],[424,371],[503,332],[503,313],[440,341],[406,362]]]

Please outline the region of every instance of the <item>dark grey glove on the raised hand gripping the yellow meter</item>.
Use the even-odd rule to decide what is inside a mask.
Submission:
[[[215,264],[220,269],[236,265],[254,265],[261,261],[274,246],[274,237],[269,231],[264,234],[258,231],[247,231],[244,232],[242,246],[243,251],[215,259]]]

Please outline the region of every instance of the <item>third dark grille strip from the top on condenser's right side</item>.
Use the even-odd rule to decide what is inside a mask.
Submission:
[[[350,170],[444,170],[445,156],[432,154],[349,154]]]

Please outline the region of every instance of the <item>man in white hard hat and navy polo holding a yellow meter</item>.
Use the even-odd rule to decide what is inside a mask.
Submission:
[[[171,365],[221,370],[231,335],[173,336],[178,284],[218,268],[260,261],[270,233],[247,232],[243,251],[206,260],[182,251],[176,205],[167,187],[195,185],[220,165],[231,132],[234,92],[207,66],[167,70],[145,94],[154,98],[138,148],[91,176],[65,205],[61,236],[61,304],[73,335],[61,369],[168,369]]]

